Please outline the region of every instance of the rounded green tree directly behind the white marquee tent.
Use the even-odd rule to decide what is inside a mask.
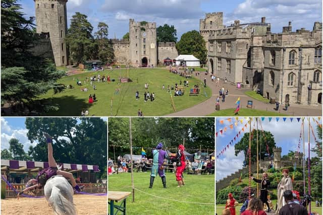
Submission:
[[[193,54],[201,63],[206,62],[205,41],[196,30],[184,33],[180,41],[176,43],[176,49],[178,54]]]

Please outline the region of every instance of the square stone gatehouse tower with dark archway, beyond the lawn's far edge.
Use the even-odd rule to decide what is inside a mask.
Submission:
[[[129,20],[130,64],[156,65],[156,23]]]

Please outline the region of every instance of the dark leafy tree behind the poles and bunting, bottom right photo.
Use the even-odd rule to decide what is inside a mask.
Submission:
[[[257,160],[257,130],[253,130],[251,134],[251,161],[255,162]],[[259,147],[259,153],[261,159],[264,157],[271,157],[273,156],[273,148],[276,146],[274,135],[270,131],[262,131],[258,130],[258,144],[260,146],[261,142],[261,151]],[[267,153],[266,146],[268,145],[268,149],[270,155]],[[240,152],[244,152],[245,158],[249,157],[247,155],[248,148],[249,148],[249,132],[245,133],[240,141],[235,145],[235,155],[237,156]]]

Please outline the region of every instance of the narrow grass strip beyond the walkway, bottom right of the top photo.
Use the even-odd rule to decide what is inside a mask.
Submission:
[[[235,115],[234,113],[235,110],[236,109],[234,108],[220,110],[220,111],[213,112],[208,116],[288,116],[287,114],[282,114],[278,112],[249,109],[249,108],[240,109],[239,115]]]

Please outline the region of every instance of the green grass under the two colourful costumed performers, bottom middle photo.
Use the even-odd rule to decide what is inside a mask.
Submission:
[[[195,204],[161,199],[135,191],[135,202],[132,195],[127,199],[127,214],[214,214],[214,175],[187,175],[184,174],[186,185],[176,187],[174,173],[167,173],[167,189],[163,188],[159,176],[155,178],[153,188],[149,189],[150,173],[134,173],[135,188],[146,193],[164,198],[181,201],[202,202],[213,204]],[[108,177],[109,191],[131,192],[131,174],[114,174]],[[110,214],[110,209],[109,209]]]

